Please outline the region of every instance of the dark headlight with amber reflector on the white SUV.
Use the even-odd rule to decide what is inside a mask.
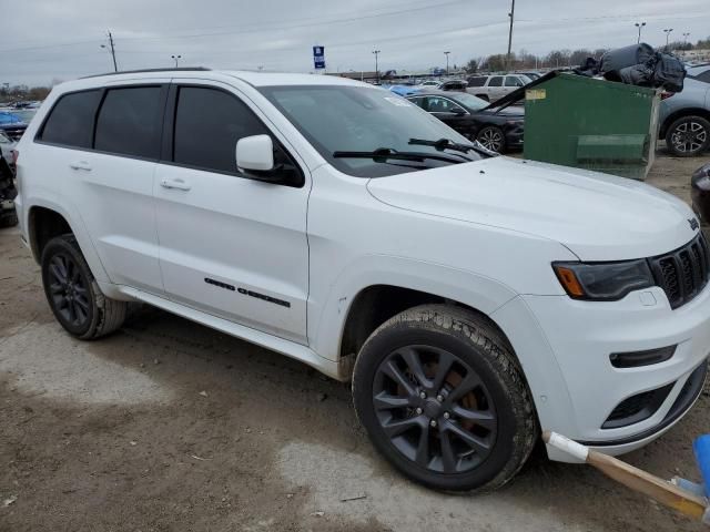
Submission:
[[[656,284],[646,259],[622,263],[552,263],[552,268],[574,299],[616,301],[629,291]]]

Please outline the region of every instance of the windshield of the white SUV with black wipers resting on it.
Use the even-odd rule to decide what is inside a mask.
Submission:
[[[416,170],[402,161],[334,157],[335,152],[374,152],[389,149],[410,152],[413,137],[426,141],[448,139],[468,141],[407,100],[388,91],[368,86],[288,85],[261,88],[264,94],[341,172],[358,177],[381,177]],[[417,145],[419,153],[442,155],[434,146]],[[448,153],[448,152],[445,152]],[[470,160],[480,158],[474,152]],[[424,166],[453,164],[426,160]]]

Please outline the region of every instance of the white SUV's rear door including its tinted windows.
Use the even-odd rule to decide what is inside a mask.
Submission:
[[[39,142],[111,282],[162,293],[153,173],[168,85],[111,86],[61,96]],[[95,129],[94,129],[95,125]]]

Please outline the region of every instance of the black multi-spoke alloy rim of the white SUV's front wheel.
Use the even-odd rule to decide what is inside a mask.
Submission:
[[[456,355],[433,346],[399,348],[379,365],[373,402],[390,443],[436,473],[462,473],[488,458],[498,420],[486,385]]]

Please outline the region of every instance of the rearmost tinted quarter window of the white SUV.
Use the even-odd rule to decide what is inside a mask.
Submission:
[[[93,117],[101,91],[65,94],[54,104],[40,139],[73,147],[91,147]]]

